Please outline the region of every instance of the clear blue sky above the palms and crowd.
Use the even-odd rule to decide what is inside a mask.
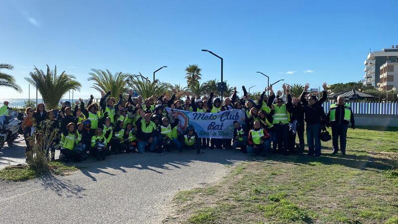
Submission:
[[[76,97],[100,93],[91,69],[109,69],[186,85],[185,68],[198,64],[202,80],[263,91],[270,83],[311,88],[363,79],[369,50],[398,45],[398,2],[319,0],[1,0],[0,63],[22,87],[0,88],[0,98],[27,98],[36,66],[76,76]],[[2,72],[5,72],[4,70]],[[31,96],[35,91],[31,88]]]

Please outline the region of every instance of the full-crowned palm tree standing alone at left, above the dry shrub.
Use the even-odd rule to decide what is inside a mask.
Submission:
[[[65,71],[57,75],[57,66],[52,71],[47,65],[46,74],[35,66],[34,71],[29,75],[30,77],[25,80],[38,89],[48,109],[56,109],[64,94],[70,90],[80,91],[82,87],[74,76],[68,75]]]

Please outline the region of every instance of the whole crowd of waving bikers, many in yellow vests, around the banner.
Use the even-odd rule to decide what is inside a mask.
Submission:
[[[322,103],[326,100],[326,83],[322,97],[308,93],[306,84],[300,96],[290,93],[290,86],[284,84],[283,91],[274,93],[272,86],[265,88],[260,99],[251,99],[244,86],[243,96],[237,96],[236,87],[231,98],[223,101],[210,93],[208,97],[187,96],[184,101],[163,93],[143,99],[141,96],[128,97],[122,94],[116,101],[111,92],[101,92],[99,104],[91,96],[88,105],[82,99],[75,102],[60,102],[61,110],[47,111],[44,104],[36,109],[27,108],[21,129],[25,139],[32,139],[37,128],[51,128],[58,135],[53,139],[49,151],[55,159],[55,149],[61,151],[65,161],[81,161],[92,155],[103,160],[109,154],[162,153],[163,151],[196,150],[203,148],[239,148],[243,153],[254,152],[267,156],[269,153],[304,153],[304,126],[308,144],[308,156],[321,155],[321,129],[331,126],[333,154],[340,150],[345,155],[348,124],[355,127],[354,114],[342,96],[332,104],[325,114]],[[269,96],[266,92],[269,91]],[[5,106],[5,105],[4,105]],[[4,107],[3,106],[3,107]],[[0,108],[2,112],[3,107]],[[170,110],[166,110],[170,108]],[[181,129],[174,110],[218,113],[226,110],[242,110],[245,117],[233,122],[232,139],[200,138],[193,125]],[[1,114],[0,114],[1,115]],[[304,125],[304,123],[306,125]],[[298,144],[296,144],[296,134]],[[37,137],[36,137],[37,138]],[[33,137],[34,139],[34,137]],[[26,150],[32,143],[26,140]]]

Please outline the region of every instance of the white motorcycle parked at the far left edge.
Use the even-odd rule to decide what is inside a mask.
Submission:
[[[0,149],[7,142],[8,146],[12,146],[14,140],[18,138],[18,130],[22,121],[18,119],[19,113],[9,111],[8,116],[0,116]]]

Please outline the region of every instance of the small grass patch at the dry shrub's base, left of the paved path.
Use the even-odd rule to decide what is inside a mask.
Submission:
[[[65,175],[67,173],[74,172],[78,170],[75,166],[68,166],[64,163],[58,161],[51,161],[48,164],[49,172],[56,175]],[[0,170],[0,179],[7,181],[24,181],[29,179],[34,179],[46,175],[45,173],[37,173],[28,166],[23,167],[6,167]]]

